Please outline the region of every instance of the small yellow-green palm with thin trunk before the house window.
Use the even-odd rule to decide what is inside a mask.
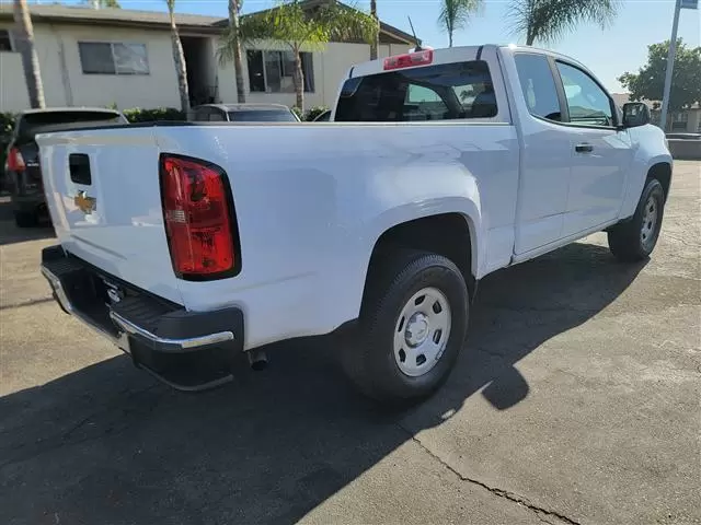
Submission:
[[[379,26],[377,20],[369,14],[335,0],[314,5],[313,9],[306,9],[303,0],[289,0],[267,11],[241,18],[238,32],[232,27],[229,30],[222,36],[218,51],[219,59],[223,62],[234,58],[237,47],[243,45],[265,45],[265,40],[273,40],[289,48],[295,57],[292,78],[296,105],[303,112],[304,73],[301,52],[323,49],[332,38],[361,38],[371,43],[377,37]]]

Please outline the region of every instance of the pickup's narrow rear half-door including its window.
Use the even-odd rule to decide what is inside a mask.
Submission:
[[[573,150],[549,57],[517,52],[514,61],[522,131],[514,253],[520,255],[561,238]]]

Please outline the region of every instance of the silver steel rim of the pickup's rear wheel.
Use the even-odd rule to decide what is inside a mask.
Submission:
[[[394,360],[399,370],[418,377],[432,370],[448,343],[451,312],[437,288],[420,290],[402,307],[394,328]]]

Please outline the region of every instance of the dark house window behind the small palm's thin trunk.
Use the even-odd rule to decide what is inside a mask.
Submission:
[[[304,91],[314,92],[311,52],[301,52]],[[291,51],[246,51],[252,92],[295,93],[295,55]]]

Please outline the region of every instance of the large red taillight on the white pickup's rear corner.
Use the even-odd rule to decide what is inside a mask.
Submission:
[[[240,265],[225,172],[197,159],[161,155],[161,196],[175,273],[187,280],[234,275]]]

